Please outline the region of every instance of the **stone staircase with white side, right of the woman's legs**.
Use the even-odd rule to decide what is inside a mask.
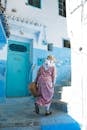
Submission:
[[[69,111],[70,94],[71,86],[55,85],[55,93],[53,97],[54,107],[67,113]]]

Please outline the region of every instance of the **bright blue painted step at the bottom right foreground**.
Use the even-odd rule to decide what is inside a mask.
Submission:
[[[41,119],[41,130],[81,130],[80,125],[68,114],[56,114]]]

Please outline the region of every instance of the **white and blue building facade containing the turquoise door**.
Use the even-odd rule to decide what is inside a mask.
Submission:
[[[70,85],[71,50],[66,2],[5,0],[1,4],[5,8],[8,33],[0,47],[0,96],[28,96],[27,86],[49,54],[57,59],[57,86]]]

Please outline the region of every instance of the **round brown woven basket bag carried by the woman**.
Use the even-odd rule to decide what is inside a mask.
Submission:
[[[38,96],[38,92],[37,92],[37,84],[35,82],[31,82],[29,84],[29,90],[31,91],[31,94],[34,96],[34,97],[37,97]]]

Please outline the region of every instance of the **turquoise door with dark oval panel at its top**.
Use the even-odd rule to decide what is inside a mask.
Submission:
[[[31,69],[31,44],[9,41],[6,75],[6,96],[28,95],[29,71]]]

